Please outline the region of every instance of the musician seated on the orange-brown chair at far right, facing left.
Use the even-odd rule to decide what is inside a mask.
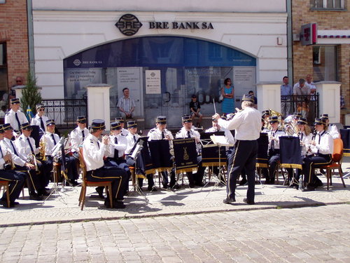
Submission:
[[[314,140],[309,142],[308,151],[310,154],[304,159],[302,171],[306,187],[303,191],[314,191],[316,187],[323,186],[321,180],[315,175],[314,168],[326,166],[332,162],[333,138],[327,132],[324,119],[315,119],[316,135]]]

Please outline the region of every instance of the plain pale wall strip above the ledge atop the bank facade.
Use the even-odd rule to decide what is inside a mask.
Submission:
[[[69,11],[285,12],[283,0],[32,0],[34,9]]]

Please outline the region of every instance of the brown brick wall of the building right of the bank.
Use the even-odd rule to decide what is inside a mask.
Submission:
[[[300,27],[309,22],[317,22],[318,30],[349,29],[350,0],[344,0],[346,11],[312,11],[309,0],[292,1],[293,34],[300,33]],[[338,75],[342,82],[341,94],[345,97],[346,108],[350,109],[350,44],[338,45]],[[313,74],[312,46],[301,46],[293,42],[293,83]]]

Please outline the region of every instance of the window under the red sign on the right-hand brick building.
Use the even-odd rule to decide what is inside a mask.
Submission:
[[[337,46],[314,46],[314,81],[337,81]]]

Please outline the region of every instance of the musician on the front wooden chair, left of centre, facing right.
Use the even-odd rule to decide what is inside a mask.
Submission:
[[[109,193],[104,201],[106,208],[125,208],[124,194],[127,191],[127,173],[118,167],[106,168],[104,156],[109,152],[109,136],[102,137],[106,129],[104,120],[92,120],[90,134],[83,142],[83,158],[86,163],[86,179],[92,182],[112,182],[113,204],[109,201]],[[99,138],[102,137],[102,142]]]

